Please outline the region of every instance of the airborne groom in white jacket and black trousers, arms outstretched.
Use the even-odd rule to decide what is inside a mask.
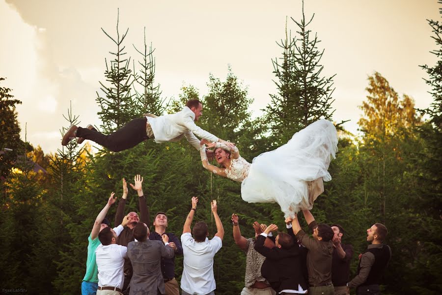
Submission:
[[[164,143],[176,142],[185,137],[194,148],[199,150],[200,141],[196,138],[198,136],[210,142],[225,143],[233,148],[233,144],[216,137],[195,124],[195,121],[201,115],[201,102],[198,99],[191,99],[186,102],[186,106],[178,113],[160,117],[144,114],[143,118],[133,119],[109,135],[98,132],[90,124],[87,128],[71,125],[64,134],[61,144],[66,146],[71,139],[78,137],[77,143],[82,143],[85,139],[88,139],[117,152],[133,148],[149,138],[154,138],[157,143]]]

